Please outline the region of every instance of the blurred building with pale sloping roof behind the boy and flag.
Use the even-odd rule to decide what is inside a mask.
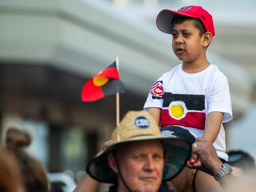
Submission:
[[[155,26],[156,15],[162,8],[178,9],[183,4],[177,0],[171,5],[166,0],[2,0],[1,137],[10,126],[28,129],[35,139],[29,150],[49,171],[84,170],[110,138],[116,122],[115,96],[82,103],[84,82],[118,54],[127,89],[120,95],[120,117],[127,110],[141,110],[153,82],[180,63],[172,52],[170,35]],[[204,7],[213,9],[209,4]],[[213,11],[213,18],[217,15]],[[255,49],[250,50],[255,48],[255,38],[242,39],[241,33],[254,37],[256,29],[219,23],[207,56],[227,76],[234,118],[238,118],[250,106],[251,85],[256,81],[250,76],[256,71],[251,66]]]

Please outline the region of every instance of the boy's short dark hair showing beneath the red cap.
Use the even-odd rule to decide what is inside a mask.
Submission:
[[[194,27],[199,29],[200,37],[202,37],[202,35],[206,33],[206,28],[204,27],[204,24],[198,18],[186,17],[186,16],[183,16],[183,15],[175,15],[172,19],[172,26],[173,26],[173,24],[181,24],[185,21],[192,22]]]

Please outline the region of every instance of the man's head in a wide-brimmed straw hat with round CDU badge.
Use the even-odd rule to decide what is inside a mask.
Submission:
[[[128,112],[111,140],[88,163],[87,172],[98,181],[118,185],[122,192],[157,192],[162,181],[183,168],[191,150],[185,140],[161,136],[146,111]]]

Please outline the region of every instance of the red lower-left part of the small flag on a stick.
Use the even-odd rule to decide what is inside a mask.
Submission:
[[[101,87],[95,86],[92,79],[88,80],[82,88],[82,101],[90,102],[97,101],[104,97]]]

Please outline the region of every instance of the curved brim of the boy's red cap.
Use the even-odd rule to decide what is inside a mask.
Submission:
[[[160,11],[160,13],[158,13],[157,15],[157,28],[164,33],[172,34],[172,19],[175,15],[183,15],[187,17],[197,18],[183,12],[164,9]]]

